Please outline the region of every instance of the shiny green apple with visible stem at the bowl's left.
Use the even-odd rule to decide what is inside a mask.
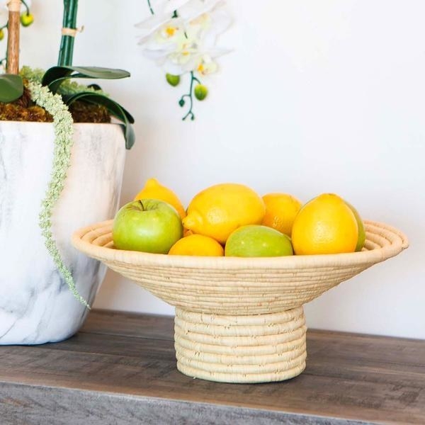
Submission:
[[[162,200],[133,200],[113,220],[113,244],[118,249],[167,254],[181,237],[179,212]]]

